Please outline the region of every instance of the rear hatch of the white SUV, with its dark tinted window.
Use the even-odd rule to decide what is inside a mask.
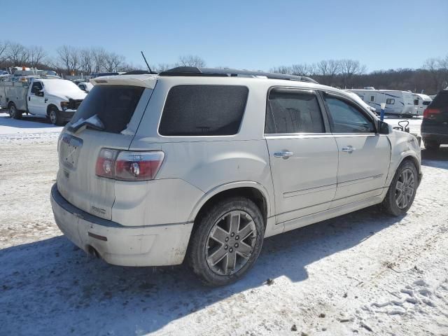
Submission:
[[[129,149],[152,90],[102,81],[59,137],[57,189],[75,207],[111,220],[115,180],[97,176],[97,158],[102,148]]]

